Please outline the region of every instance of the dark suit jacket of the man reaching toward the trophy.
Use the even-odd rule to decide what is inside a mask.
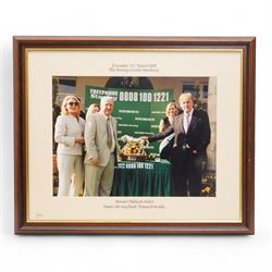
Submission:
[[[183,113],[177,115],[173,120],[172,126],[162,133],[158,133],[148,137],[148,139],[150,141],[156,141],[163,139],[174,133],[175,136],[171,141],[171,145],[176,146],[177,150],[184,150],[186,147],[187,151],[193,152],[196,150],[198,156],[202,156],[203,159],[206,159],[206,149],[210,144],[211,136],[210,123],[207,112],[194,110],[187,134],[184,131],[183,116]]]

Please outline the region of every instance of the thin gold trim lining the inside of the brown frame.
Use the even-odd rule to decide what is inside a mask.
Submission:
[[[243,159],[243,57],[244,57],[244,50],[243,49],[168,49],[168,48],[161,48],[161,49],[152,49],[152,48],[145,48],[145,49],[133,49],[133,48],[122,48],[122,49],[116,49],[116,48],[102,48],[102,49],[87,49],[87,48],[27,48],[25,49],[25,76],[26,76],[26,82],[25,82],[25,94],[26,94],[26,120],[28,121],[29,113],[28,113],[28,53],[29,52],[77,52],[77,51],[84,51],[84,52],[239,52],[240,53],[240,89],[239,89],[239,99],[240,99],[240,127],[239,127],[239,141],[240,141],[240,157],[239,157],[239,220],[234,220],[234,221],[212,221],[212,220],[188,220],[188,221],[178,221],[178,220],[168,220],[168,221],[160,221],[160,220],[30,220],[29,219],[29,154],[28,154],[28,137],[29,137],[29,124],[26,122],[26,222],[27,223],[73,223],[73,222],[78,222],[78,223],[240,223],[243,220],[243,173],[242,173],[242,159]]]

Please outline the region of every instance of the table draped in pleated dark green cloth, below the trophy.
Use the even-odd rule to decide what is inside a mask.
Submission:
[[[114,169],[112,196],[170,196],[171,163],[122,161]]]

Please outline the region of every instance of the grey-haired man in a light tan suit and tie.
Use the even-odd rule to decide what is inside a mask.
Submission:
[[[110,196],[116,158],[116,120],[111,116],[114,101],[102,97],[101,111],[91,114],[85,126],[85,196]]]

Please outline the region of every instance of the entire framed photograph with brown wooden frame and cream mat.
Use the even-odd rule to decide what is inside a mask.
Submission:
[[[14,37],[15,234],[254,234],[255,37]]]

